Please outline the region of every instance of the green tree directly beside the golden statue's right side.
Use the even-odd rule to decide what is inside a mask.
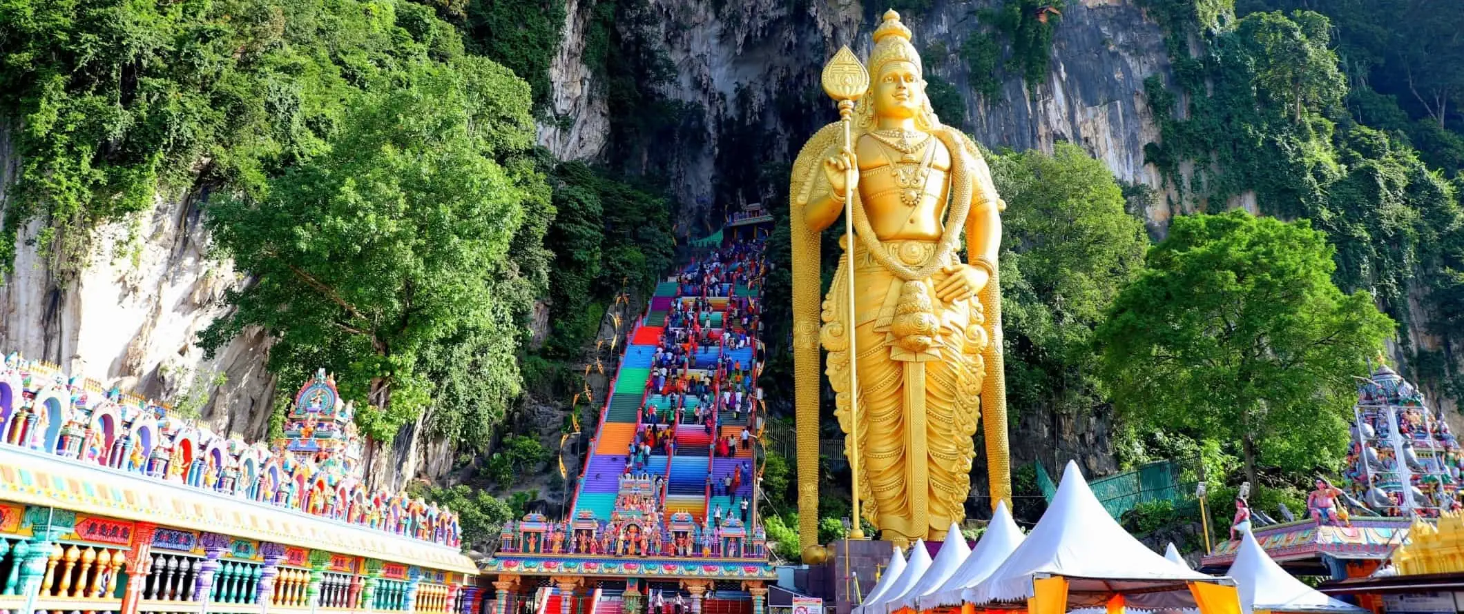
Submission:
[[[1001,216],[1007,395],[1016,408],[1083,412],[1102,403],[1092,332],[1149,246],[1102,162],[1060,143],[991,158]],[[1013,417],[1015,418],[1015,417]]]

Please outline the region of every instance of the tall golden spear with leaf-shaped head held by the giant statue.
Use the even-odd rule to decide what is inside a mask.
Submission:
[[[854,51],[849,51],[848,45],[840,47],[839,53],[833,54],[833,58],[824,66],[823,88],[829,98],[839,102],[839,123],[843,124],[843,148],[854,151],[854,137],[849,136],[849,118],[854,115],[854,102],[870,89],[870,72],[854,56]],[[854,345],[856,338],[854,327],[859,322],[854,317],[854,190],[858,189],[854,183],[854,167],[851,165],[845,170],[843,183],[843,253],[848,257],[845,275],[849,281],[849,320],[845,325],[845,330],[849,335],[849,437],[854,440],[854,444],[849,446],[849,474],[854,477],[854,484],[851,484],[854,497],[851,499],[852,518],[849,519],[849,538],[864,539],[864,528],[862,522],[859,522],[859,370],[855,364],[855,357],[859,352]]]

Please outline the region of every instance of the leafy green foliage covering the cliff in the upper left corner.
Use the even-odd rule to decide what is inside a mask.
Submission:
[[[429,9],[384,0],[7,1],[0,115],[22,167],[6,232],[41,216],[42,247],[76,268],[91,224],[158,192],[258,193],[324,151],[353,92],[461,51]]]

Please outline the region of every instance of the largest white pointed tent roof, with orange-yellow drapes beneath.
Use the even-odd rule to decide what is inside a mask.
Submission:
[[[1129,605],[1140,610],[1195,607],[1189,582],[1221,582],[1165,560],[1123,531],[1075,462],[1022,545],[966,598],[978,607],[1025,601],[1032,580],[1045,576],[1067,579],[1069,608],[1104,605],[1113,594],[1127,594]]]

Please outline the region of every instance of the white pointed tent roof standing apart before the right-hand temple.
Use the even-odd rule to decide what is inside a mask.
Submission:
[[[1364,613],[1363,608],[1337,601],[1291,577],[1277,561],[1271,560],[1271,556],[1261,548],[1261,544],[1250,535],[1250,531],[1243,531],[1241,534],[1240,547],[1236,548],[1236,561],[1230,564],[1227,575],[1236,579],[1236,588],[1240,592],[1240,610],[1244,614],[1250,614],[1253,610],[1275,613]]]

